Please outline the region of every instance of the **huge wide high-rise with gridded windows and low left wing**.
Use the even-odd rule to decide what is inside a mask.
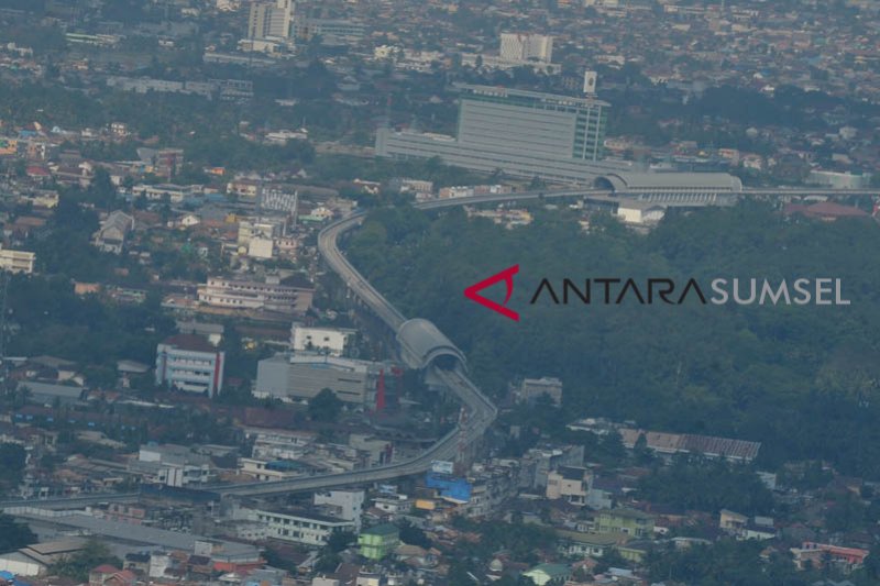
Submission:
[[[449,165],[514,177],[586,184],[624,163],[602,162],[610,104],[592,96],[569,97],[490,86],[459,86],[458,136],[376,133],[376,154],[393,158],[440,157]]]

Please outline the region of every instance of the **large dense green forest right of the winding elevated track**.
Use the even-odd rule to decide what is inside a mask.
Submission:
[[[880,230],[870,221],[792,220],[744,203],[672,214],[649,235],[566,210],[505,230],[453,210],[436,221],[376,210],[349,245],[355,265],[406,314],[437,322],[490,394],[516,376],[559,376],[566,417],[761,441],[765,464],[833,461],[880,476]],[[519,264],[519,322],[462,290]],[[553,305],[529,300],[542,277],[843,279],[845,307]],[[706,286],[708,289],[708,287]],[[503,285],[486,295],[499,295]],[[711,294],[711,289],[708,294]]]

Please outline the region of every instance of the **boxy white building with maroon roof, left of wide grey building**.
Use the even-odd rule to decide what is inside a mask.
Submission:
[[[156,346],[156,385],[209,397],[223,388],[226,354],[207,339],[194,334],[178,334]]]

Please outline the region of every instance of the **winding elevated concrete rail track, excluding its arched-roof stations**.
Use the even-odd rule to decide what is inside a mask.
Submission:
[[[802,197],[802,196],[827,196],[827,197],[848,197],[848,196],[876,196],[878,189],[828,189],[828,188],[749,188],[739,192],[740,196],[770,196],[781,197]],[[457,206],[481,204],[481,203],[504,203],[516,202],[530,199],[553,199],[565,197],[594,197],[613,198],[613,195],[605,189],[566,189],[559,191],[522,191],[515,194],[490,194],[470,197],[449,198],[441,200],[426,201],[417,203],[415,207],[422,210],[437,210],[452,208]],[[366,212],[361,211],[337,220],[324,228],[318,235],[318,248],[332,269],[345,283],[349,289],[354,292],[361,301],[366,305],[392,331],[396,332],[400,324],[406,321],[400,311],[388,302],[345,258],[339,250],[339,236],[349,230],[361,224]],[[328,488],[339,488],[344,486],[363,485],[378,482],[392,480],[405,476],[411,476],[428,471],[431,463],[436,460],[454,460],[462,445],[479,441],[486,432],[488,427],[497,416],[495,405],[471,382],[461,365],[453,369],[442,369],[429,366],[432,375],[442,380],[466,407],[469,417],[464,419],[464,429],[455,427],[443,435],[431,447],[416,457],[375,466],[372,468],[356,469],[340,474],[324,474],[290,478],[286,480],[244,483],[235,485],[218,485],[206,487],[206,490],[219,495],[235,496],[272,496],[299,491],[312,491]],[[87,497],[89,502],[113,500],[114,497],[131,499],[136,494],[123,495],[95,495]],[[74,504],[76,499],[59,499],[58,505],[65,500],[67,505]],[[19,500],[0,502],[0,507],[10,508],[23,505],[45,505],[45,500]]]

